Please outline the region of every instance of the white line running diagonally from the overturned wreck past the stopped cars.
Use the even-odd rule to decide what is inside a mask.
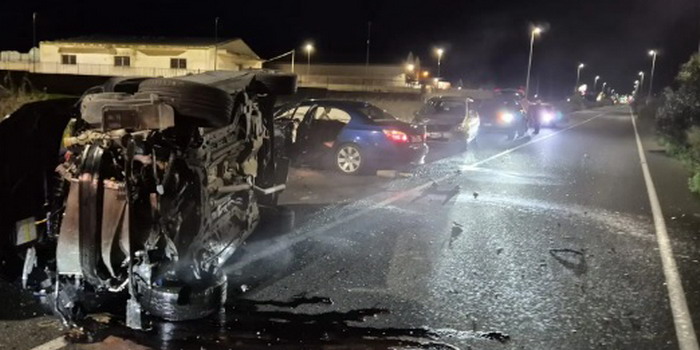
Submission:
[[[577,126],[581,126],[581,125],[583,125],[583,124],[586,124],[586,123],[588,123],[588,122],[590,122],[590,121],[592,121],[592,120],[594,120],[594,119],[600,117],[600,116],[603,115],[603,114],[605,114],[605,113],[598,113],[598,114],[594,115],[593,117],[590,117],[590,118],[588,118],[588,119],[585,119],[585,120],[583,120],[583,121],[581,121],[581,122],[578,122],[578,123],[576,123],[576,124],[570,125],[570,126],[564,128],[564,129],[557,130],[557,131],[555,131],[555,132],[552,132],[552,133],[550,133],[550,134],[544,135],[544,136],[542,136],[542,137],[538,137],[538,138],[536,138],[536,139],[534,139],[534,140],[530,140],[530,141],[528,141],[528,142],[526,142],[526,143],[523,143],[522,145],[518,145],[518,146],[516,146],[516,147],[509,148],[509,149],[507,149],[507,150],[505,150],[505,151],[503,151],[503,152],[500,152],[500,153],[495,154],[495,155],[493,155],[493,156],[490,156],[490,157],[488,157],[488,158],[485,158],[485,159],[482,159],[482,160],[480,160],[480,161],[476,161],[476,162],[474,162],[474,163],[472,163],[472,164],[469,164],[469,165],[467,165],[466,167],[467,167],[467,168],[475,168],[475,167],[480,166],[480,165],[482,165],[482,164],[484,164],[484,163],[490,162],[490,161],[492,161],[492,160],[494,160],[494,159],[498,159],[498,158],[500,158],[500,157],[503,157],[503,156],[505,156],[505,155],[508,155],[508,154],[510,154],[510,153],[513,153],[513,152],[515,152],[515,151],[517,151],[517,150],[519,150],[519,149],[521,149],[521,148],[523,148],[523,147],[526,147],[526,146],[529,146],[529,145],[532,145],[532,144],[535,144],[535,143],[538,143],[538,142],[547,140],[547,139],[549,139],[549,138],[551,138],[551,137],[554,137],[555,135],[559,135],[559,134],[562,133],[562,132],[565,132],[565,131],[571,130],[571,129],[577,127]],[[415,193],[418,193],[418,192],[420,192],[420,191],[423,191],[423,190],[427,189],[428,187],[430,187],[434,182],[442,182],[442,181],[445,181],[445,180],[447,180],[448,178],[450,178],[450,177],[452,177],[452,176],[455,176],[455,175],[456,175],[456,174],[444,175],[444,176],[442,176],[442,177],[440,177],[440,178],[437,178],[437,179],[434,179],[434,180],[432,180],[432,181],[430,181],[430,182],[426,182],[426,183],[424,183],[424,184],[422,184],[422,185],[419,185],[419,186],[413,187],[413,188],[411,188],[411,189],[407,189],[407,190],[405,190],[405,191],[399,192],[399,193],[397,193],[397,194],[395,194],[395,195],[393,195],[393,196],[391,196],[391,197],[389,197],[389,198],[387,198],[387,199],[385,199],[385,200],[383,200],[383,201],[381,201],[381,202],[375,203],[374,205],[370,205],[370,206],[368,206],[367,208],[360,209],[360,210],[358,210],[358,211],[356,211],[356,212],[354,212],[354,213],[350,213],[350,214],[348,214],[348,215],[345,215],[345,216],[343,216],[343,217],[341,217],[341,218],[338,218],[337,220],[334,220],[334,221],[332,221],[332,222],[329,222],[328,224],[325,224],[325,225],[323,225],[323,226],[320,226],[320,227],[318,227],[318,228],[316,228],[316,229],[314,229],[314,230],[310,230],[310,231],[307,231],[307,232],[305,232],[305,233],[296,234],[296,235],[292,234],[292,235],[290,235],[290,236],[288,236],[288,237],[283,237],[282,239],[275,240],[275,242],[272,242],[272,243],[270,243],[270,242],[265,242],[266,248],[265,248],[263,251],[261,251],[261,252],[258,253],[258,254],[255,254],[255,255],[253,255],[253,256],[250,256],[250,257],[248,257],[247,259],[242,259],[242,260],[240,260],[240,261],[237,261],[235,264],[233,264],[233,265],[229,266],[228,268],[226,268],[226,270],[231,271],[231,270],[235,270],[235,269],[242,268],[243,266],[245,266],[245,265],[247,265],[247,264],[253,263],[253,262],[255,262],[255,261],[258,261],[258,260],[260,260],[260,259],[263,259],[263,258],[265,258],[265,257],[268,257],[268,256],[270,256],[270,255],[272,255],[272,254],[275,254],[275,253],[278,253],[278,252],[283,251],[283,250],[285,250],[285,249],[288,249],[290,246],[292,246],[292,245],[294,245],[294,244],[297,244],[297,243],[299,243],[299,242],[301,242],[301,241],[304,241],[304,240],[308,239],[309,237],[313,237],[313,236],[319,235],[319,234],[321,234],[321,233],[323,233],[323,232],[326,232],[326,231],[328,231],[328,230],[331,230],[331,229],[333,229],[333,228],[336,228],[336,227],[338,227],[338,226],[340,226],[340,225],[342,225],[342,224],[345,224],[345,223],[347,223],[347,222],[349,222],[349,221],[351,221],[351,220],[354,220],[354,219],[356,219],[356,218],[358,218],[358,217],[360,217],[360,216],[362,216],[362,215],[365,215],[365,214],[367,214],[367,213],[369,213],[369,212],[371,212],[371,211],[377,210],[378,208],[381,208],[381,207],[387,206],[387,205],[389,205],[389,204],[392,204],[392,203],[394,203],[394,202],[396,202],[396,201],[398,201],[398,200],[400,200],[400,199],[402,199],[402,198],[404,198],[404,197],[407,197],[407,196],[409,196],[409,195],[411,195],[411,194],[415,194]]]

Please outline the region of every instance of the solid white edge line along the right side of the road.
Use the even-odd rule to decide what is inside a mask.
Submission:
[[[671,240],[668,237],[666,230],[666,221],[664,220],[663,212],[659,197],[656,195],[654,181],[651,179],[651,172],[647,165],[647,158],[644,154],[642,141],[639,138],[637,131],[637,123],[634,121],[634,115],[630,111],[632,119],[632,127],[634,128],[634,136],[637,140],[637,150],[639,151],[639,160],[642,165],[642,173],[644,173],[644,182],[649,194],[649,204],[651,204],[651,214],[654,217],[654,228],[656,229],[656,240],[659,243],[659,254],[661,254],[661,266],[664,270],[666,278],[666,288],[668,289],[668,299],[671,303],[671,312],[673,313],[673,324],[676,327],[676,338],[678,338],[678,347],[680,350],[699,350],[698,339],[693,328],[693,320],[690,317],[688,303],[683,292],[683,284],[681,276],[676,267],[676,260],[673,258],[673,247]]]

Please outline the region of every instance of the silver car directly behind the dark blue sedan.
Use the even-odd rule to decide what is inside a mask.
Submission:
[[[479,133],[479,113],[473,102],[462,96],[431,97],[414,121],[425,125],[428,142],[457,144],[466,150]]]

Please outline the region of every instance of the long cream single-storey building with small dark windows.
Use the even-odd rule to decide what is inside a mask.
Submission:
[[[241,39],[86,36],[39,43],[37,62],[0,54],[0,69],[76,75],[175,76],[261,68]]]

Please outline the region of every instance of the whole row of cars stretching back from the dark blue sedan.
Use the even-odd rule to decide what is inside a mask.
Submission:
[[[275,125],[292,134],[287,149],[296,164],[354,175],[422,164],[434,145],[452,144],[463,152],[484,132],[509,139],[530,128],[536,134],[542,126],[561,125],[563,117],[550,104],[499,91],[481,101],[463,95],[428,98],[410,123],[367,102],[305,99],[277,107]]]

